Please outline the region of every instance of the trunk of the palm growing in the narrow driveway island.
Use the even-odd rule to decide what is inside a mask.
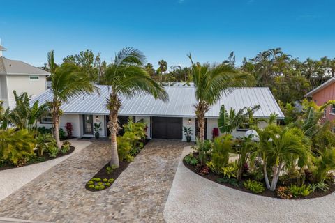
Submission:
[[[119,155],[117,153],[117,126],[117,114],[110,112],[111,167],[112,165],[119,167]]]

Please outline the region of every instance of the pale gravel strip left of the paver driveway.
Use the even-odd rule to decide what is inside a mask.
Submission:
[[[72,146],[75,146],[75,151],[69,155],[65,155],[54,160],[40,162],[38,164],[31,164],[26,167],[0,171],[0,200],[20,189],[23,185],[29,183],[31,180],[44,173],[51,167],[59,164],[59,162],[66,160],[71,155],[78,153],[82,150],[82,148],[85,148],[91,144],[89,141],[80,141],[77,139],[71,139],[69,141],[71,142]]]

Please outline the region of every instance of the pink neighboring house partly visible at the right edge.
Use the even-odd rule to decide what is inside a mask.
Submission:
[[[329,100],[335,100],[335,77],[306,93],[305,97],[312,98],[313,102],[318,106],[325,104]],[[325,119],[329,121],[335,119],[335,105],[325,109]]]

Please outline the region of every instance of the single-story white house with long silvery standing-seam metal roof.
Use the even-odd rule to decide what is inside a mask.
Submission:
[[[101,122],[101,137],[107,137],[109,130],[108,110],[106,98],[110,93],[107,86],[98,86],[99,93],[81,95],[72,98],[68,103],[61,105],[64,114],[61,116],[60,126],[64,128],[67,122],[73,125],[74,137],[93,137],[94,123]],[[192,140],[195,140],[195,132],[198,132],[195,117],[195,88],[194,86],[165,86],[169,95],[169,101],[155,100],[151,95],[138,95],[134,98],[121,97],[122,107],[119,111],[119,122],[126,122],[128,116],[133,116],[135,121],[147,123],[147,135],[150,139],[183,139],[186,140],[183,126],[193,130]],[[36,100],[45,103],[52,100],[52,91],[48,89],[31,101]],[[205,137],[212,138],[212,131],[217,128],[218,114],[221,105],[226,109],[239,110],[242,107],[260,105],[255,112],[255,118],[269,118],[275,113],[278,119],[284,118],[281,108],[277,104],[269,88],[253,87],[234,89],[228,95],[223,95],[216,105],[207,112]],[[51,117],[41,118],[38,126],[51,128]],[[260,125],[266,125],[260,123]],[[237,128],[232,132],[234,137],[244,136],[246,129]]]

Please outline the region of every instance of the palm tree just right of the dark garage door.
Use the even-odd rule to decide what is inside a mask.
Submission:
[[[252,75],[235,69],[225,63],[210,65],[209,63],[193,63],[191,54],[188,58],[192,63],[192,79],[195,85],[195,115],[198,118],[199,137],[204,140],[204,115],[210,107],[220,100],[223,94],[230,93],[234,88],[248,86],[253,83]]]

